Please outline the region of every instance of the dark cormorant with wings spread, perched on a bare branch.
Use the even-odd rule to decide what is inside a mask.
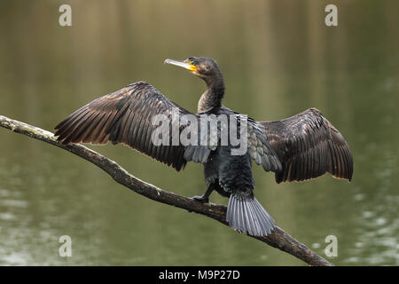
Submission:
[[[137,82],[95,99],[70,114],[55,127],[58,140],[63,144],[123,143],[175,170],[184,169],[189,161],[200,162],[204,165],[207,191],[194,198],[207,202],[214,190],[229,197],[227,222],[240,233],[254,236],[268,235],[275,225],[273,218],[254,198],[251,159],[262,165],[264,170],[275,172],[277,183],[320,177],[326,172],[351,180],[353,158],[348,144],[340,131],[316,108],[275,122],[257,122],[247,118],[247,151],[244,154],[231,154],[234,146],[231,146],[230,140],[224,146],[183,145],[180,142],[177,145],[154,145],[152,135],[157,128],[153,123],[155,114],[164,114],[170,119],[175,111],[179,117],[192,114],[198,121],[202,114],[214,114],[214,117],[226,114],[244,121],[243,114],[222,105],[223,75],[214,59],[166,59],[165,63],[184,67],[207,84],[207,90],[198,103],[198,114],[177,106],[149,83]],[[230,128],[231,122],[228,125]],[[170,125],[170,128],[173,127]],[[178,134],[181,133],[184,126],[179,124],[177,130]],[[220,130],[219,126],[216,135],[219,142]],[[166,141],[171,142],[173,131],[166,133]],[[200,130],[197,134],[204,135]],[[215,133],[208,134],[215,137]]]

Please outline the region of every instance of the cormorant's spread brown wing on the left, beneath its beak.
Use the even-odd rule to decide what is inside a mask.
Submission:
[[[207,147],[190,147],[193,159],[190,154],[184,157],[187,147],[181,145],[180,141],[177,140],[177,145],[172,143],[172,135],[179,135],[182,130],[177,121],[176,127],[179,131],[174,134],[172,111],[179,116],[191,114],[149,83],[132,83],[119,91],[95,99],[70,114],[55,127],[55,135],[63,144],[83,142],[102,145],[108,141],[113,144],[123,143],[176,170],[182,170],[187,161],[205,162],[210,153]],[[163,114],[170,121],[166,138],[168,142],[158,146],[152,141],[153,131],[159,126],[153,125],[155,114]]]

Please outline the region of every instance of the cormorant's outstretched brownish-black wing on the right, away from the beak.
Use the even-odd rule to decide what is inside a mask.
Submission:
[[[326,172],[352,179],[353,157],[347,141],[316,108],[281,121],[259,123],[283,167],[276,173],[278,183],[320,177]]]

